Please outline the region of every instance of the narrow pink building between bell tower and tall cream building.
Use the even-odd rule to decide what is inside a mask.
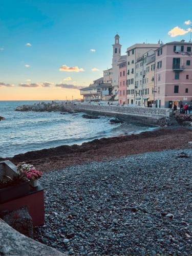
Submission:
[[[119,75],[118,75],[119,104],[126,104],[126,61],[121,62],[118,66],[119,66]]]

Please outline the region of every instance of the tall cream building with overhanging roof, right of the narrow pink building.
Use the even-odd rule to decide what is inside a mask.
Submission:
[[[140,102],[139,104],[142,104],[142,101],[136,100],[136,97],[139,95],[138,95],[138,90],[136,90],[137,83],[135,82],[139,83],[141,78],[141,77],[137,77],[136,79],[136,73],[141,72],[139,70],[138,72],[136,72],[136,62],[141,60],[141,58],[143,57],[143,54],[146,53],[147,51],[156,50],[159,47],[160,47],[160,43],[159,44],[143,43],[143,44],[135,44],[127,48],[127,51],[126,51],[127,53],[127,104],[136,104],[136,101],[137,101],[137,104],[138,102]],[[140,69],[142,69],[142,67],[140,67]]]

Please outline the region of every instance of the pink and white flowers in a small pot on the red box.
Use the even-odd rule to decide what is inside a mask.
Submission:
[[[37,170],[32,164],[26,164],[25,162],[17,165],[19,173],[23,173],[32,187],[38,186],[38,180],[42,176],[42,172]]]

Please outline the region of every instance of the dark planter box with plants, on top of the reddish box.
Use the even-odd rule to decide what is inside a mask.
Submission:
[[[0,203],[5,203],[17,197],[26,196],[29,193],[29,181],[20,184],[0,188]]]

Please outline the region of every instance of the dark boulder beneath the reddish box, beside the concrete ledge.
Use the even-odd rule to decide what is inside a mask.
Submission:
[[[18,232],[33,238],[33,223],[27,206],[9,212],[2,219]]]

